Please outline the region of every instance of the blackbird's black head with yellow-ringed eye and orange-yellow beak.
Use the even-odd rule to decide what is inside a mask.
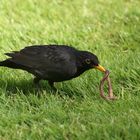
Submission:
[[[99,64],[98,57],[90,52],[82,51],[82,65],[87,69],[95,68],[101,72],[105,72],[106,69]]]

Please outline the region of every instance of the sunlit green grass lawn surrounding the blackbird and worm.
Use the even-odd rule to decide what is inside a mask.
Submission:
[[[33,76],[0,68],[0,140],[140,139],[139,0],[1,0],[0,60],[33,44],[88,50],[111,71],[114,94],[99,96],[102,74],[91,70],[37,92]]]

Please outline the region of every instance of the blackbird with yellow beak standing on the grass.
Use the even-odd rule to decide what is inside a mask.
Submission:
[[[25,70],[35,76],[35,84],[48,80],[52,88],[54,82],[70,80],[92,68],[105,72],[95,54],[65,45],[27,46],[6,55],[10,58],[1,61],[0,66]]]

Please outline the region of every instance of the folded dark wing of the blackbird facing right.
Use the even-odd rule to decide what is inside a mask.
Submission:
[[[62,69],[75,64],[75,57],[69,50],[57,46],[29,46],[19,52],[6,53],[10,61],[32,69]]]

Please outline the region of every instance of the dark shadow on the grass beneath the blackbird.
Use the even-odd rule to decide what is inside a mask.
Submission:
[[[75,89],[70,89],[68,87],[58,88],[57,91],[54,91],[48,84],[47,81],[41,81],[40,86],[37,87],[33,83],[33,79],[30,80],[19,80],[16,81],[13,78],[6,79],[6,80],[0,80],[0,88],[7,94],[18,94],[19,92],[22,92],[24,95],[34,94],[37,96],[40,96],[43,91],[46,91],[46,94],[53,94],[53,95],[59,95],[60,97],[68,96],[70,98],[76,98],[76,96],[82,97],[83,96]]]

